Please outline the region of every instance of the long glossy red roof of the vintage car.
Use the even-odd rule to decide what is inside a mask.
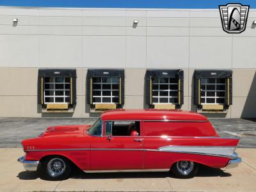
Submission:
[[[115,109],[104,111],[101,118],[102,120],[207,120],[204,115],[199,113],[171,109]]]

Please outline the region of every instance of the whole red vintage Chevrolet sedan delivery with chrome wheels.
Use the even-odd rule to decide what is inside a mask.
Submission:
[[[106,111],[93,125],[48,127],[23,140],[18,161],[48,180],[67,179],[72,166],[84,172],[171,171],[193,177],[200,164],[234,167],[239,138],[220,138],[205,116],[188,111]]]

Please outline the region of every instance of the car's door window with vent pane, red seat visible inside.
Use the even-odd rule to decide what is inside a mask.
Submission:
[[[105,124],[106,135],[112,136],[140,136],[140,122],[113,121]]]

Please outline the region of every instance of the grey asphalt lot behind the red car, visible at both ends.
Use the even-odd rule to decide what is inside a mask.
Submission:
[[[33,138],[54,125],[92,124],[95,118],[0,118],[0,148],[21,147],[20,141]],[[238,136],[240,148],[256,148],[256,119],[210,119],[220,136]]]

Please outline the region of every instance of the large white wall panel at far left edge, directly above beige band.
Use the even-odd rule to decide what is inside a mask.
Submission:
[[[38,36],[0,35],[0,67],[38,67]]]

